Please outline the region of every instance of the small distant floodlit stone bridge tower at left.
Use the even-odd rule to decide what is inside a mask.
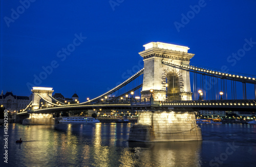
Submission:
[[[39,109],[41,105],[51,106],[51,104],[41,101],[41,98],[38,96],[38,94],[40,94],[42,98],[46,99],[49,102],[52,102],[52,99],[48,96],[48,94],[52,96],[52,92],[54,91],[51,87],[33,87],[31,91],[33,93],[32,110]]]

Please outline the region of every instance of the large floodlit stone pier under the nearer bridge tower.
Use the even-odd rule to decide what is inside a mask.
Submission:
[[[174,111],[142,111],[138,123],[131,127],[129,141],[197,141],[201,128],[194,113]]]

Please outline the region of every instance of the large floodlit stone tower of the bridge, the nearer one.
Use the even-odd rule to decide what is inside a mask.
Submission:
[[[195,54],[187,53],[187,46],[150,42],[140,52],[144,61],[141,98],[148,101],[153,89],[154,101],[192,100],[189,72],[162,64],[162,60],[176,64],[189,64]],[[167,83],[167,85],[166,85]],[[167,90],[166,90],[167,86]]]

